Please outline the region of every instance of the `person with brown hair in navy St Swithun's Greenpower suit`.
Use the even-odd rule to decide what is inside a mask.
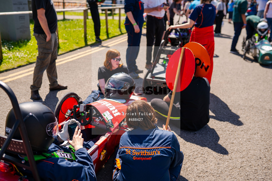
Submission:
[[[184,156],[170,128],[156,126],[154,109],[146,101],[134,101],[126,122],[132,130],[121,136],[112,179],[177,180]]]

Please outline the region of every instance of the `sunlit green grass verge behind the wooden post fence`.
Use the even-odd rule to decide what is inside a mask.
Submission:
[[[109,38],[126,33],[124,20],[121,21],[121,32],[118,28],[118,20],[109,19]],[[30,40],[6,41],[2,40],[3,60],[0,60],[0,72],[26,65],[36,61],[38,55],[37,41],[33,36],[34,22],[30,22]],[[59,29],[59,55],[85,46],[83,20],[60,20]],[[100,38],[107,39],[106,21],[101,20]],[[93,21],[87,19],[87,44],[95,43]]]

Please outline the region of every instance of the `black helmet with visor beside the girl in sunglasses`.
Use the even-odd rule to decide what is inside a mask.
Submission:
[[[135,89],[135,82],[124,72],[112,75],[105,85],[105,98],[130,98]]]

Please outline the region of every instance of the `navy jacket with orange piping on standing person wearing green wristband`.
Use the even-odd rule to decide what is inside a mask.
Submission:
[[[143,18],[143,13],[144,13],[144,5],[142,1],[140,0],[125,0],[125,7],[124,7],[125,13],[131,11],[133,18],[135,22],[138,24],[139,27],[143,26],[144,23],[144,18]],[[126,20],[124,24],[129,24],[131,23],[126,17]]]

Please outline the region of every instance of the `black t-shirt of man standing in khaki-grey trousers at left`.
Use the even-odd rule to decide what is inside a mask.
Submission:
[[[37,14],[37,9],[41,9],[41,8],[45,9],[45,17],[46,17],[50,32],[51,33],[56,32],[58,18],[57,18],[57,13],[56,13],[53,0],[32,0],[31,6],[32,6],[32,15],[34,20],[34,29],[33,29],[34,33],[45,34],[38,20],[38,14]]]

